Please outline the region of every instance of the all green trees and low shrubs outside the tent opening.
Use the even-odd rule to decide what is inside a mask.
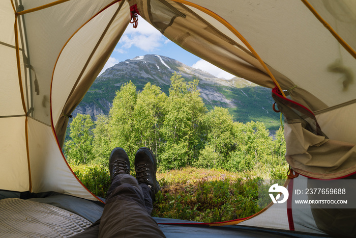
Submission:
[[[137,91],[130,81],[117,90],[108,116],[78,114],[63,150],[83,184],[105,197],[111,150],[124,148],[134,168],[136,150],[148,147],[162,186],[154,216],[213,222],[256,213],[257,180],[287,172],[283,127],[271,137],[261,122],[207,110],[198,83],[174,73],[166,95],[150,83]]]

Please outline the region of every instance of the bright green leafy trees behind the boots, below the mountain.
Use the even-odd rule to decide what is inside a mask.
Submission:
[[[283,128],[273,139],[263,123],[234,122],[221,107],[207,111],[198,83],[174,73],[168,96],[151,83],[139,92],[131,81],[122,85],[109,116],[99,115],[95,123],[88,115],[74,118],[65,147],[68,160],[107,166],[111,150],[122,147],[134,168],[136,150],[148,147],[163,170],[246,171],[259,164],[285,164]]]

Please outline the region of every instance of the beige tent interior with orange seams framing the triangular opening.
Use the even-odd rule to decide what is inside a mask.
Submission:
[[[276,106],[285,116],[286,160],[300,174],[295,179],[352,178],[356,172],[355,1],[3,0],[0,202],[20,204],[32,199],[34,206],[56,204],[56,209],[76,213],[80,205],[74,204],[96,201],[90,202],[95,204],[93,212],[83,217],[91,221],[93,214],[100,216],[100,199],[73,175],[61,147],[68,115],[130,21],[139,24],[137,17],[196,56],[273,89]],[[70,201],[61,203],[65,197]],[[15,205],[0,204],[1,217],[10,216],[5,208]],[[234,227],[240,231],[252,227],[288,235],[325,235],[332,227],[336,230],[331,233],[341,234],[337,227],[347,224],[347,218],[338,219],[320,225],[310,209],[295,210],[287,204],[225,225],[239,223]],[[3,220],[4,231],[2,224]],[[80,230],[86,222],[78,224]],[[23,232],[31,230],[26,229]],[[356,233],[351,228],[345,232]]]

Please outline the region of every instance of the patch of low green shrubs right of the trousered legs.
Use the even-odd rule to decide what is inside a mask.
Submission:
[[[192,170],[200,173],[191,176]],[[177,170],[171,171],[173,174]],[[156,195],[152,216],[198,222],[220,222],[244,218],[257,213],[258,189],[255,178],[238,178],[223,170],[188,168],[174,175],[158,177],[162,191]],[[178,179],[180,180],[180,179]]]

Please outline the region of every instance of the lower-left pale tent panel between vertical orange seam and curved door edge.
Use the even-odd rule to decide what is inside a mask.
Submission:
[[[33,192],[59,193],[94,199],[73,176],[50,126],[28,119],[28,145]]]

